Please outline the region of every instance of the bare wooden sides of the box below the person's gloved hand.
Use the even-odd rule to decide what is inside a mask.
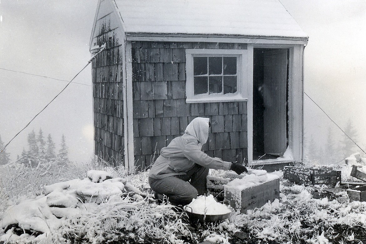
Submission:
[[[264,182],[241,192],[232,191],[232,188],[224,186],[224,192],[225,200],[229,202],[230,206],[244,214],[247,210],[260,208],[268,201],[273,202],[276,198],[279,199],[280,179]]]

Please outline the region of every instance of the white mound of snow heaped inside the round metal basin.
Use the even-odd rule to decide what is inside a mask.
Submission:
[[[193,212],[194,214],[206,214],[206,215],[220,215],[228,214],[231,210],[224,204],[216,202],[212,195],[199,196],[197,199],[193,199],[186,211]]]

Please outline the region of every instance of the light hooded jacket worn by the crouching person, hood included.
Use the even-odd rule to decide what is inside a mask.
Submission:
[[[209,169],[229,170],[231,163],[205,154],[202,145],[207,142],[208,118],[195,118],[187,126],[183,136],[174,138],[167,147],[161,149],[160,156],[150,169],[149,177],[163,179],[182,175],[197,163]]]

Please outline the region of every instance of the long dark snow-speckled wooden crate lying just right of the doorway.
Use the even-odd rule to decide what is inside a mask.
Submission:
[[[318,169],[313,167],[283,168],[283,178],[296,184],[304,185],[336,185],[341,182],[340,170]]]

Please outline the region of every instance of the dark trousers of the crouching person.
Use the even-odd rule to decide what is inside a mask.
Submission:
[[[205,195],[208,173],[208,168],[195,164],[193,169],[184,175],[169,176],[160,180],[149,177],[149,184],[154,192],[166,195],[173,205],[186,205],[198,195]]]

